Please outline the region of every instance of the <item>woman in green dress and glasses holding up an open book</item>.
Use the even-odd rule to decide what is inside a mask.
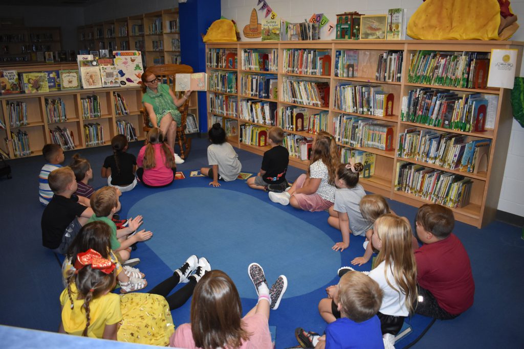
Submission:
[[[161,84],[160,78],[151,72],[142,74],[142,103],[149,115],[149,126],[158,127],[167,136],[167,142],[174,149],[174,141],[177,137],[177,126],[181,123],[180,111],[182,106],[191,95],[186,91],[182,98],[177,98],[169,85]],[[181,164],[184,160],[178,154],[174,154],[174,160]]]

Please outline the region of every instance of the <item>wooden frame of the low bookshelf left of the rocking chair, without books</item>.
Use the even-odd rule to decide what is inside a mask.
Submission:
[[[42,71],[42,70],[63,70],[78,69],[76,63],[65,63],[58,65],[31,65],[13,66],[10,69],[22,71]],[[113,93],[118,93],[125,99],[128,114],[120,115],[115,106],[115,97]],[[97,96],[100,102],[100,117],[85,119],[82,115],[82,98]],[[116,88],[93,88],[93,89],[73,89],[64,91],[50,91],[41,93],[13,94],[0,96],[1,117],[5,129],[0,129],[0,138],[5,141],[0,142],[0,147],[11,158],[15,157],[13,148],[13,133],[19,130],[26,132],[29,139],[30,155],[41,155],[42,147],[47,143],[52,143],[50,130],[56,128],[68,128],[72,133],[74,149],[83,149],[92,147],[89,140],[86,139],[84,125],[90,123],[99,123],[103,129],[104,138],[99,145],[111,143],[113,136],[118,134],[117,122],[127,121],[133,125],[136,130],[138,140],[144,139],[143,125],[144,120],[140,114],[142,108],[142,97],[139,86],[116,87]],[[60,98],[65,107],[66,121],[49,122],[46,111],[46,98]],[[7,106],[9,102],[24,102],[27,106],[27,125],[11,127]]]

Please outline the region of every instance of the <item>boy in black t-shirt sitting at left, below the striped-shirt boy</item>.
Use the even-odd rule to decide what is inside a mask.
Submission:
[[[49,174],[54,195],[43,210],[42,244],[53,252],[65,254],[77,233],[93,216],[89,199],[77,196],[77,180],[70,167],[60,167]]]

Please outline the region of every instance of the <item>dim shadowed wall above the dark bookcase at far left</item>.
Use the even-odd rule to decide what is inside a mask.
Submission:
[[[27,27],[60,27],[62,50],[78,49],[77,27],[84,25],[80,7],[0,6],[0,13],[4,17],[23,17]]]

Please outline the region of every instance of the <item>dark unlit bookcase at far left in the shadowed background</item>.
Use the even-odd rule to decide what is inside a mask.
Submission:
[[[0,62],[36,62],[36,52],[60,51],[60,27],[0,27]],[[31,57],[33,56],[33,57]]]

